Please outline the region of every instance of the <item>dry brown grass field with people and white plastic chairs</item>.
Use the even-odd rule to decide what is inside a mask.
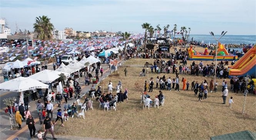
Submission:
[[[143,63],[141,63],[143,61]],[[209,93],[207,99],[198,102],[194,92],[189,91],[163,91],[165,105],[159,109],[142,109],[140,93],[134,89],[134,83],[139,77],[139,72],[146,59],[132,59],[126,61],[118,69],[119,76],[108,76],[105,81],[111,80],[116,86],[118,80],[123,83],[123,89],[128,88],[128,101],[117,104],[117,110],[105,111],[99,109],[98,101],[93,99],[94,110],[86,112],[86,119],[71,118],[64,122],[64,127],[57,125],[54,130],[57,134],[76,135],[81,137],[98,137],[122,140],[152,140],[152,139],[209,139],[211,136],[237,132],[241,130],[256,131],[256,105],[255,96],[246,98],[246,114],[242,115],[244,96],[229,92],[229,99],[233,97],[232,108],[223,105],[220,88],[216,93]],[[191,61],[188,64],[192,63]],[[134,66],[133,66],[134,65]],[[128,67],[126,67],[128,66]],[[128,69],[128,76],[124,76],[124,69]],[[113,73],[114,75],[116,74]],[[159,74],[166,77],[175,77],[174,74]],[[149,74],[157,77],[157,74]],[[207,81],[211,77],[193,77],[180,75],[191,81]],[[221,83],[221,80],[218,80]],[[156,84],[155,84],[156,85]],[[158,95],[159,89],[150,92],[150,96]],[[182,88],[182,83],[180,83]],[[191,89],[191,88],[190,88]],[[105,87],[106,92],[106,87]],[[115,93],[115,90],[114,90]]]

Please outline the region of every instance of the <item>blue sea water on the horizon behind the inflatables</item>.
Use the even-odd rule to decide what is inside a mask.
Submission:
[[[220,35],[215,35],[218,39]],[[191,41],[204,41],[204,43],[216,44],[216,40],[211,35],[190,35]],[[220,40],[221,44],[256,44],[256,35],[224,35]]]

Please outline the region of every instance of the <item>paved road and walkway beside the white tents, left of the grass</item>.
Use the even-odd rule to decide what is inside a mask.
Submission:
[[[124,61],[121,61],[121,63],[124,63]],[[52,69],[52,65],[49,64],[49,69]],[[105,77],[107,77],[109,74],[110,74],[110,70],[109,70],[109,66],[105,65],[103,66],[103,69],[104,69],[104,73],[103,73],[103,76],[102,77],[99,77],[99,81],[102,81]],[[90,86],[85,86],[84,85],[84,78],[81,78],[80,79],[80,82],[81,83],[81,87],[82,87],[82,91],[81,91],[81,94],[85,94],[89,91],[90,89]],[[54,91],[57,91],[56,89]],[[7,97],[17,97],[17,92],[2,92],[0,93],[0,99],[4,99],[4,98],[7,98]],[[18,98],[18,97],[17,97]],[[75,102],[76,100],[75,99],[72,99],[72,100],[69,100],[68,103],[71,104],[72,102]],[[39,119],[37,117],[37,111],[36,111],[36,101],[33,101],[31,100],[31,102],[29,103],[29,105],[31,106],[29,108],[30,110],[30,113],[31,115],[34,117],[35,119],[35,122],[36,122],[36,125],[35,127],[37,128],[37,130],[42,126],[42,125],[39,125]],[[64,107],[64,102],[62,102],[62,108]],[[53,113],[53,117],[56,117],[56,111],[57,109],[59,109],[57,107],[57,103],[53,102],[53,105],[54,105],[54,113]],[[30,135],[29,135],[29,130],[27,128],[27,126],[25,125],[25,122],[22,123],[22,129],[21,130],[10,130],[10,115],[8,113],[5,113],[4,112],[4,109],[5,109],[5,105],[3,104],[3,102],[1,101],[0,102],[0,135],[1,135],[1,138],[0,139],[7,139],[7,140],[13,140],[14,138],[19,138],[19,140],[28,140],[30,139]],[[15,114],[13,114],[15,115]],[[51,135],[47,135],[49,136],[48,138],[51,138]],[[74,138],[72,137],[62,137],[62,136],[56,136],[57,138],[60,137],[61,139],[64,139],[65,140],[72,140]],[[78,140],[100,140],[100,139],[97,139],[97,138],[79,138],[77,137],[76,139]]]

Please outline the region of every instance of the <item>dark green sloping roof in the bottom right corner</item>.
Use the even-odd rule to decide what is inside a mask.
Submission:
[[[256,140],[256,133],[251,131],[241,131],[211,137],[211,140]]]

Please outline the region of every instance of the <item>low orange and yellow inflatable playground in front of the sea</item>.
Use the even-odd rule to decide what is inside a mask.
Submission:
[[[190,46],[190,48],[188,48],[188,52],[189,52],[190,60],[211,60],[211,61],[213,61],[213,59],[215,59],[214,58],[215,56],[209,55],[207,48],[205,48],[204,53],[200,53],[200,52],[195,52],[193,47]],[[213,53],[215,53],[215,51],[213,51]],[[217,60],[218,61],[221,61],[223,59],[232,61],[234,59],[234,57],[235,57],[235,59],[237,59],[237,56],[235,56],[233,54],[229,54],[227,52],[224,45],[222,45],[221,43],[218,43],[218,50],[217,50]]]

